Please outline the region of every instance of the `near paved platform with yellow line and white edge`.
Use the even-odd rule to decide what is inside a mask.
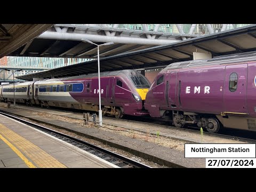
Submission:
[[[0,115],[1,168],[117,167],[33,127]]]

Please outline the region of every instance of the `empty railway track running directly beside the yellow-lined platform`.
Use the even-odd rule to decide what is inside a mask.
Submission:
[[[109,150],[103,149],[101,147],[92,145],[91,143],[88,143],[86,141],[82,141],[82,140],[73,138],[73,137],[71,137],[67,134],[63,134],[63,133],[60,133],[58,131],[48,129],[44,126],[37,125],[35,123],[25,121],[21,118],[14,117],[12,115],[7,114],[5,111],[0,110],[0,114],[4,115],[4,116],[7,116],[7,117],[10,117],[12,119],[15,119],[19,122],[22,122],[22,123],[26,124],[26,125],[32,126],[35,129],[38,129],[38,130],[43,131],[47,134],[50,134],[55,138],[66,141],[66,142],[70,143],[71,145],[74,145],[78,148],[81,148],[81,149],[83,149],[83,150],[85,150],[85,151],[87,151],[87,152],[89,152],[89,153],[91,153],[91,154],[93,154],[97,157],[100,157],[100,158],[104,159],[105,161],[108,161],[110,163],[115,164],[118,167],[121,167],[121,168],[151,168],[148,165],[139,163],[137,161],[133,161],[130,158],[126,158],[122,155],[113,153],[112,151],[109,151]]]

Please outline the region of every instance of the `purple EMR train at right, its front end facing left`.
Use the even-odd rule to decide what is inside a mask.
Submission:
[[[256,131],[256,53],[172,63],[151,85],[145,108],[176,127]]]

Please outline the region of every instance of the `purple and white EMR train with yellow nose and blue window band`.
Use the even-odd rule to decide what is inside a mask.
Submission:
[[[150,87],[147,78],[135,70],[119,70],[68,78],[46,79],[36,82],[15,84],[15,101],[42,107],[65,107],[99,110],[101,93],[102,115],[144,116],[149,113],[143,108]],[[0,98],[13,101],[13,84],[0,87]]]

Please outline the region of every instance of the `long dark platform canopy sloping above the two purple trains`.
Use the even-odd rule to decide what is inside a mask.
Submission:
[[[250,51],[256,51],[256,25],[100,58],[100,71],[165,67],[173,62],[193,60],[193,52],[211,53],[212,57],[218,57]],[[91,60],[17,78],[33,81],[33,78],[58,78],[97,72],[98,60]]]

